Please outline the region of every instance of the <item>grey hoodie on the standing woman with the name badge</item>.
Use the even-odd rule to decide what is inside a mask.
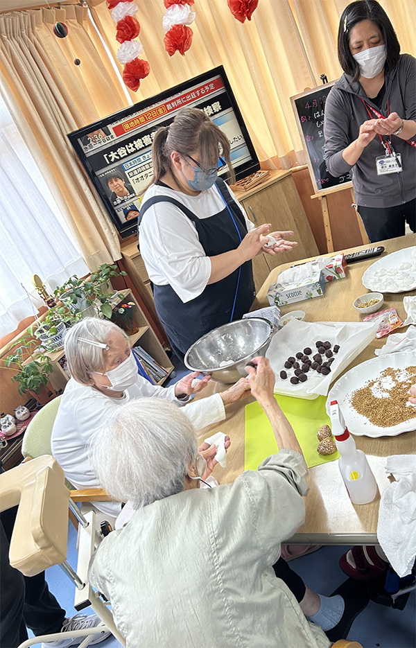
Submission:
[[[357,139],[360,126],[370,119],[365,105],[374,107],[387,116],[397,112],[402,119],[416,121],[416,59],[401,54],[395,69],[385,74],[385,94],[381,107],[367,97],[361,83],[352,83],[351,76],[343,74],[329,92],[325,105],[324,135],[326,161],[329,173],[338,177],[352,169],[356,203],[362,207],[392,207],[416,197],[416,148],[404,139],[392,135],[392,145],[401,153],[401,173],[377,175],[376,157],[384,155],[378,135],[365,147],[354,166],[343,159],[343,150]],[[372,111],[370,111],[372,112]],[[376,119],[372,114],[371,119]],[[385,138],[384,138],[385,139]]]

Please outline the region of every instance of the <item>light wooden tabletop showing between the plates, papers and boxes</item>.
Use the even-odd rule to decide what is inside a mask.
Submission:
[[[347,277],[325,286],[324,297],[309,299],[288,304],[281,308],[281,315],[290,310],[301,308],[306,313],[306,320],[309,322],[338,321],[338,322],[360,322],[361,315],[353,308],[352,303],[356,297],[365,294],[367,289],[363,286],[361,278],[364,271],[375,261],[382,259],[390,252],[416,245],[416,234],[401,236],[390,240],[380,241],[375,245],[361,245],[359,247],[345,249],[342,252],[356,252],[367,247],[383,245],[385,252],[382,256],[367,261],[356,261],[348,265]],[[323,256],[332,256],[331,254]],[[283,257],[284,258],[284,257]],[[315,258],[315,257],[313,257]],[[310,261],[311,259],[305,259]],[[266,294],[270,283],[276,281],[279,272],[286,270],[291,264],[280,265],[270,272],[268,279],[263,283],[252,306],[252,310],[268,306]],[[396,308],[401,319],[405,319],[406,311],[403,307],[404,295],[416,295],[416,290],[406,293],[385,293],[384,308]],[[402,328],[400,331],[405,331]],[[368,347],[355,358],[346,371],[355,365],[374,358],[374,349],[382,347],[387,337],[373,340]],[[222,392],[227,385],[211,381],[205,389],[211,393]],[[250,400],[227,405],[227,420],[218,425],[208,426],[203,430],[202,437],[214,434],[214,432],[225,432],[232,439],[232,445],[227,453],[227,467],[221,469],[216,466],[214,475],[220,483],[234,482],[236,477],[244,470],[244,407]],[[405,432],[397,437],[354,437],[357,448],[361,448],[367,455],[374,476],[379,484],[379,490],[388,486],[388,476],[385,475],[385,457],[396,454],[411,454],[416,448],[416,430]],[[294,543],[319,543],[319,544],[376,544],[376,528],[379,513],[380,495],[376,496],[370,504],[353,505],[340,478],[338,462],[329,462],[315,466],[309,470],[310,491],[306,496],[306,520],[305,523],[293,538]]]

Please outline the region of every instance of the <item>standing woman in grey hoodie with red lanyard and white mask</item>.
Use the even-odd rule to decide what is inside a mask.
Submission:
[[[349,4],[340,19],[343,76],[325,105],[331,175],[352,170],[358,211],[371,242],[416,231],[416,60],[400,54],[376,0]]]

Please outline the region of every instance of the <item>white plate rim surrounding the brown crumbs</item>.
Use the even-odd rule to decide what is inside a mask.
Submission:
[[[357,365],[347,371],[328,394],[327,399],[327,413],[329,414],[329,405],[331,401],[336,400],[340,405],[340,410],[343,412],[345,423],[349,432],[357,436],[366,437],[395,437],[401,435],[402,432],[410,432],[416,430],[416,410],[415,416],[404,423],[399,423],[397,426],[390,428],[381,428],[375,426],[373,423],[358,414],[352,407],[349,401],[349,396],[355,389],[361,389],[367,380],[374,380],[383,369],[392,367],[393,369],[406,369],[410,365],[415,365],[415,358],[413,353],[389,353],[387,356],[378,356],[361,365]],[[382,401],[381,401],[382,402]]]

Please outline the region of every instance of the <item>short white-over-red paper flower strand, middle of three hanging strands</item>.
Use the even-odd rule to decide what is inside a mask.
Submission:
[[[189,27],[195,20],[191,5],[195,0],[164,0],[166,13],[163,17],[163,28],[166,32],[164,45],[169,56],[180,52],[182,56],[189,50],[193,31]]]

